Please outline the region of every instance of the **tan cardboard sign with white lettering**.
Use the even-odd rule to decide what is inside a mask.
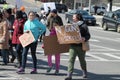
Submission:
[[[55,29],[60,44],[80,43],[81,34],[77,25],[55,26]]]

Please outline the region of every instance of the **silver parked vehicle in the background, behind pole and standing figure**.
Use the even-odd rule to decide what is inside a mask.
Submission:
[[[91,6],[91,8],[90,8],[90,13],[92,13],[92,14],[95,13],[94,7],[95,7],[95,5]],[[89,7],[84,8],[84,10],[89,11]],[[103,15],[106,12],[107,12],[107,10],[104,6],[97,6],[97,14],[98,15]]]

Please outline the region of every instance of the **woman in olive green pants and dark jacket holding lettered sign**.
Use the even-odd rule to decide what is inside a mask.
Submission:
[[[77,24],[80,28],[81,33],[81,42],[88,41],[90,39],[90,33],[88,30],[87,25],[83,21],[81,14],[74,14],[73,15],[73,24]],[[72,73],[74,69],[75,58],[78,56],[80,65],[83,72],[83,78],[87,78],[87,66],[85,60],[86,51],[82,50],[82,43],[79,44],[70,44],[69,49],[69,63],[68,63],[68,74],[65,80],[72,80]]]

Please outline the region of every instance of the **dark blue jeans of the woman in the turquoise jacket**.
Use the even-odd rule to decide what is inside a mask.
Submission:
[[[28,54],[29,48],[31,49],[31,55],[32,55],[32,59],[33,59],[33,68],[36,69],[37,68],[37,57],[36,57],[37,41],[33,42],[30,45],[23,48],[22,68],[25,69],[26,61],[27,61],[27,54]]]

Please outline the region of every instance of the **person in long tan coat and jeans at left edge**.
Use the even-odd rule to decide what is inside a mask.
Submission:
[[[9,49],[9,31],[8,31],[8,21],[4,13],[0,12],[0,50],[3,58],[2,65],[7,65],[8,63],[8,49]]]

